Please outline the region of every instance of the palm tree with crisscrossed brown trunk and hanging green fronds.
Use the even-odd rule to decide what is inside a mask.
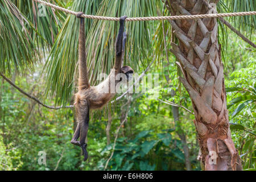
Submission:
[[[166,1],[52,1],[59,6],[85,14],[101,16],[158,16],[164,14],[190,15],[216,13],[217,10],[253,11],[255,1],[235,0],[166,0]],[[210,8],[210,10],[209,10]],[[3,0],[0,2],[0,72],[11,75],[26,73],[39,59],[38,49],[48,53],[45,72],[49,94],[55,95],[56,103],[67,104],[75,88],[77,38],[79,23],[75,16],[46,7],[46,16],[38,16],[38,3]],[[2,11],[5,10],[5,11]],[[167,10],[167,11],[165,11]],[[7,20],[6,20],[7,19]],[[255,17],[246,16],[230,19],[240,30],[255,30]],[[55,23],[53,23],[55,22]],[[230,137],[224,67],[219,44],[225,28],[218,27],[216,19],[177,20],[165,22],[168,38],[172,33],[177,42],[171,44],[171,52],[179,60],[183,73],[180,81],[187,89],[195,113],[195,125],[200,141],[200,160],[205,170],[240,169],[240,158]],[[164,50],[161,22],[127,22],[129,34],[126,60],[133,68],[148,65],[147,57],[155,51],[159,57]],[[113,65],[114,37],[117,23],[102,20],[86,20],[86,47],[90,82],[96,75],[108,72]],[[222,30],[222,31],[218,31]],[[158,35],[157,39],[152,38]],[[156,41],[157,40],[157,41]],[[168,39],[171,40],[171,39]],[[170,43],[170,44],[168,44]],[[47,56],[47,54],[45,54]],[[140,60],[140,61],[138,61]],[[215,160],[216,159],[216,160]]]

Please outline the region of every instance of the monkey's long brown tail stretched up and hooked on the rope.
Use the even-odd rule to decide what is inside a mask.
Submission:
[[[80,12],[77,14],[77,18],[80,18],[80,30],[79,30],[79,89],[86,89],[89,87],[88,71],[86,65],[86,52],[85,52],[85,30],[84,30],[84,18]]]

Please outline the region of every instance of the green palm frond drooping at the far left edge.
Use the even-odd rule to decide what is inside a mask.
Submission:
[[[0,71],[10,74],[33,68],[35,44],[28,30],[30,22],[10,0],[0,2]]]

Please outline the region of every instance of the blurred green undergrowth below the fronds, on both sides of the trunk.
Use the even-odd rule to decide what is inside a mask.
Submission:
[[[255,52],[242,40],[230,35],[226,55],[225,84],[230,113],[232,139],[238,148],[244,169],[255,168],[255,101],[243,107],[247,98],[255,97]],[[159,72],[158,97],[192,110],[190,98],[177,81],[174,57],[170,63],[170,81],[167,82],[162,68],[152,67],[151,73]],[[159,64],[166,64],[160,60]],[[167,68],[163,68],[167,69]],[[24,77],[13,77],[15,84],[26,92],[43,97],[44,80],[35,72]],[[142,72],[143,70],[141,70]],[[171,89],[176,96],[171,97]],[[80,148],[69,143],[72,138],[73,111],[48,110],[29,100],[1,79],[0,82],[0,169],[5,170],[102,170],[113,151],[114,137],[121,123],[122,113],[127,111],[127,121],[119,131],[115,150],[108,170],[184,170],[185,159],[179,130],[185,132],[192,170],[200,170],[196,160],[199,145],[196,140],[192,114],[179,109],[180,121],[174,122],[171,106],[155,99],[154,92],[133,94],[117,101],[111,112],[111,143],[107,145],[106,110],[93,114],[88,133],[89,159],[82,162]],[[127,101],[131,98],[130,105]],[[238,100],[237,98],[245,98]],[[238,102],[238,101],[239,102]],[[234,102],[237,101],[237,102]],[[54,101],[46,100],[48,105]],[[122,107],[123,106],[123,107]],[[47,165],[39,165],[38,152],[46,152]]]

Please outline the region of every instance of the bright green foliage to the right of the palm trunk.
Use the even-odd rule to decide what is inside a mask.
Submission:
[[[255,42],[255,37],[254,37]],[[225,80],[232,139],[243,169],[255,169],[256,52],[240,39],[230,39]]]

